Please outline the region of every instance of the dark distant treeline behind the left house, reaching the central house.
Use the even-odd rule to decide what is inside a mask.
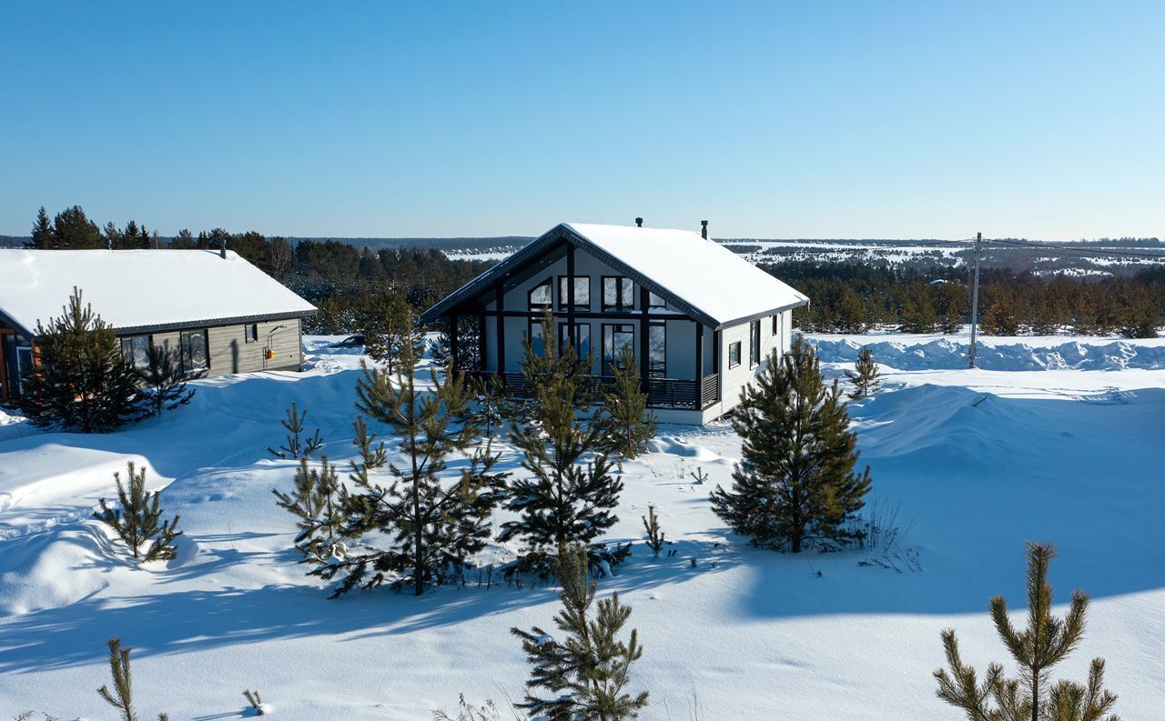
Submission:
[[[157,231],[130,220],[122,228],[106,223],[99,228],[80,206],[66,208],[50,219],[44,208],[37,214],[30,248],[175,248],[219,250],[223,244],[269,276],[313,302],[319,313],[304,322],[306,333],[347,333],[353,319],[365,312],[369,299],[400,293],[416,308],[426,308],[483,272],[487,260],[451,260],[436,248],[358,249],[341,241],[297,243],[261,233],[230,233],[223,228],[195,235],[179,230],[164,242]],[[62,299],[64,302],[65,299]],[[100,313],[100,308],[97,308]]]

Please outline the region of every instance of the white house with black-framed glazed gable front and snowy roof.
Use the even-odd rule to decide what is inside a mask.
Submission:
[[[792,309],[809,299],[704,231],[563,223],[469,281],[422,319],[478,319],[479,366],[521,391],[523,341],[573,336],[592,373],[610,376],[630,348],[657,419],[704,423],[730,411],[774,348],[788,351]],[[570,329],[573,327],[573,331]],[[459,362],[460,357],[460,362]]]

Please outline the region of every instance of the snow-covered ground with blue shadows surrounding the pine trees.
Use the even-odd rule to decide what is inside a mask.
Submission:
[[[939,631],[955,627],[980,666],[1005,658],[987,600],[1002,593],[1022,609],[1030,538],[1060,548],[1060,611],[1072,588],[1093,597],[1087,637],[1060,674],[1082,679],[1104,656],[1122,716],[1159,718],[1165,342],[1079,340],[1078,352],[1071,338],[986,338],[984,367],[963,370],[956,338],[813,340],[829,374],[867,343],[897,364],[883,369],[887,390],[850,411],[874,493],[898,506],[922,570],[861,565],[873,551],[748,548],[707,501],[739,438],[727,426],[661,428],[654,452],[624,464],[612,540],[636,540],[635,555],[600,581],[635,609],[645,647],[635,678],[651,692],[642,718],[686,720],[694,692],[705,720],[960,719],[934,698]],[[292,517],[270,493],[290,485],[294,464],[266,448],[295,400],[332,459],[351,456],[359,358],[324,345],[308,341],[304,373],[199,381],[191,406],[116,434],[34,433],[0,416],[0,719],[112,719],[93,690],[107,681],[113,635],[135,649],[142,718],[239,718],[245,687],[270,718],[296,721],[418,721],[459,692],[521,695],[528,669],[509,628],[550,623],[553,588],[471,583],[333,601],[296,564]],[[129,459],[169,484],[164,505],[186,534],[175,562],[134,567],[87,519]],[[709,485],[693,485],[696,467]],[[672,558],[638,543],[649,504]],[[495,548],[482,561],[504,557]]]

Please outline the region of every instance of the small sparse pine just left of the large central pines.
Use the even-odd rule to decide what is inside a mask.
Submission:
[[[295,514],[299,521],[299,533],[295,547],[303,554],[303,563],[329,563],[343,558],[347,547],[341,538],[344,514],[343,491],[336,466],[327,463],[327,456],[319,459],[319,469],[308,466],[308,458],[299,458],[291,493],[274,488],[275,505]]]

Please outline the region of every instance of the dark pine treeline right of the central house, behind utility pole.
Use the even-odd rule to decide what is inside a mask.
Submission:
[[[761,267],[810,297],[810,306],[793,313],[810,333],[863,333],[874,327],[955,333],[969,322],[967,269],[922,271],[816,260]],[[981,329],[990,335],[1072,330],[1156,337],[1165,308],[1165,266],[1101,280],[983,269],[979,300]]]

